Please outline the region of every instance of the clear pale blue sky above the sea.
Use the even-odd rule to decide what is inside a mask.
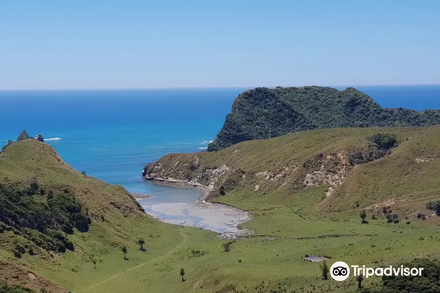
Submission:
[[[440,84],[440,0],[1,0],[0,89]]]

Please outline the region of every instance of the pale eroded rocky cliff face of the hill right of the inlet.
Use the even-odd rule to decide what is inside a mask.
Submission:
[[[206,187],[208,198],[224,195],[226,191],[246,188],[251,191],[269,191],[283,187],[329,186],[326,195],[339,186],[352,166],[346,154],[319,154],[307,160],[286,162],[274,170],[262,164],[259,170],[246,169],[236,164],[206,166],[201,163],[204,154],[166,155],[148,164],[143,172],[147,180]]]

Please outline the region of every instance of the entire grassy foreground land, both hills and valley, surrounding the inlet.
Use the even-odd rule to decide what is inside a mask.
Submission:
[[[236,240],[155,221],[124,188],[72,169],[51,146],[12,143],[0,153],[0,292],[356,292],[355,277],[322,280],[319,263],[303,257],[376,267],[439,259],[439,134],[437,126],[311,130],[146,167],[149,179],[207,185],[211,200],[249,210],[242,226],[254,233]],[[383,206],[401,221],[387,223]],[[383,292],[377,281],[363,284]]]

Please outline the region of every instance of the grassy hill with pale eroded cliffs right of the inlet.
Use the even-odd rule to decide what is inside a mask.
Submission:
[[[379,146],[377,133],[398,143]],[[320,129],[242,142],[219,152],[168,154],[146,166],[143,175],[210,186],[214,201],[239,192],[257,201],[288,203],[296,192],[321,188],[322,199],[313,210],[319,217],[366,209],[384,218],[383,207],[393,206],[402,219],[423,214],[439,222],[427,209],[440,200],[439,149],[438,126]],[[240,201],[232,204],[242,207]]]

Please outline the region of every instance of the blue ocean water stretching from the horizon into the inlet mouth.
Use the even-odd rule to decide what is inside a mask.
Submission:
[[[355,87],[384,107],[440,108],[440,85]],[[22,129],[42,133],[88,175],[132,192],[195,198],[191,189],[145,182],[141,171],[166,153],[206,148],[245,89],[0,91],[0,146]]]

